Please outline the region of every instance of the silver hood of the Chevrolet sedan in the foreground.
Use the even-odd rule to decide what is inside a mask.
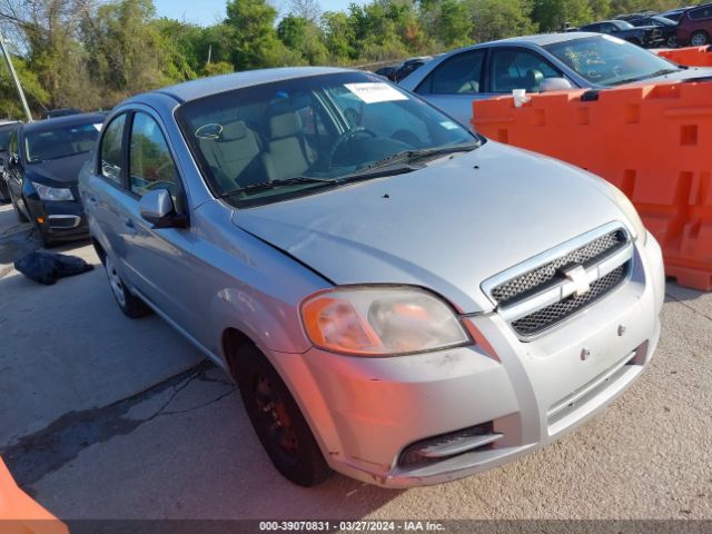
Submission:
[[[483,280],[623,215],[601,179],[487,141],[406,175],[236,210],[235,225],[337,285],[408,284],[462,313]]]

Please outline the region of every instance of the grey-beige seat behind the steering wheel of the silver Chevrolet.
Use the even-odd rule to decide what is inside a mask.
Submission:
[[[316,158],[304,138],[296,111],[269,118],[269,141],[263,159],[270,180],[300,176],[312,166]]]

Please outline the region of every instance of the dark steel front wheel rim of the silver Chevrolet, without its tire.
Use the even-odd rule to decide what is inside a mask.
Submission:
[[[266,376],[257,374],[253,384],[255,405],[259,414],[260,424],[283,461],[290,465],[296,465],[299,442],[284,399]]]

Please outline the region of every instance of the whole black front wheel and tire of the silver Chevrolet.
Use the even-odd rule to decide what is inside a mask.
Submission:
[[[299,486],[324,482],[332,471],[291,393],[265,355],[251,344],[243,345],[235,372],[249,421],[277,471]]]

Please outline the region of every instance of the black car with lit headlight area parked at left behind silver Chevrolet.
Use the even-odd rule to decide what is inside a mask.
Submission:
[[[8,139],[7,184],[21,222],[42,245],[87,237],[79,200],[79,169],[89,159],[102,113],[81,113],[20,125]]]

